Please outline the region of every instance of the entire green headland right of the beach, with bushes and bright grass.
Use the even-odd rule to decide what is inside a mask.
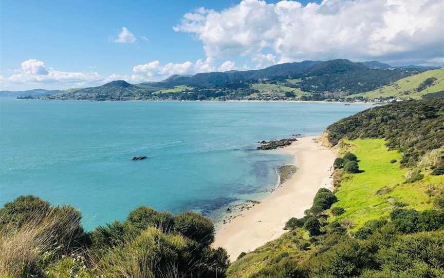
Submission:
[[[232,263],[229,277],[443,277],[442,107],[396,103],[329,126],[334,189],[321,188],[289,232]]]

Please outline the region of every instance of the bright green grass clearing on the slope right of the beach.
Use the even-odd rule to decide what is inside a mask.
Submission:
[[[361,227],[366,221],[389,216],[394,208],[387,200],[394,198],[396,202],[408,204],[407,208],[424,210],[432,207],[432,198],[427,194],[430,186],[442,187],[443,176],[426,175],[423,180],[403,184],[409,169],[400,168],[401,153],[389,151],[383,139],[344,140],[345,144],[354,146],[353,152],[358,157],[357,174],[344,174],[336,195],[338,202],[332,207],[342,207],[346,212],[340,216],[331,215],[335,219],[351,220],[352,230]],[[397,160],[396,163],[390,163]],[[388,187],[386,194],[377,194],[378,189]]]

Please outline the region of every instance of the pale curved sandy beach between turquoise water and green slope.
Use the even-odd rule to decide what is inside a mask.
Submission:
[[[335,160],[332,150],[317,143],[315,136],[298,138],[297,142],[278,151],[295,156],[295,173],[281,187],[270,193],[231,222],[218,225],[213,246],[224,247],[235,261],[241,252],[253,251],[277,239],[286,231],[285,223],[291,217],[304,216],[313,197],[321,187],[331,188],[330,167]]]

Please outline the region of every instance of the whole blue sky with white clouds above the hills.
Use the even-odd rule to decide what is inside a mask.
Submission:
[[[444,0],[0,0],[0,89],[347,58],[444,64]]]

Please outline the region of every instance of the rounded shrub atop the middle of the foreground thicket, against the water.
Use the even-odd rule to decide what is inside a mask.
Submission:
[[[168,212],[158,212],[152,208],[141,206],[128,214],[126,222],[141,230],[155,227],[168,232],[172,228],[173,217]]]

